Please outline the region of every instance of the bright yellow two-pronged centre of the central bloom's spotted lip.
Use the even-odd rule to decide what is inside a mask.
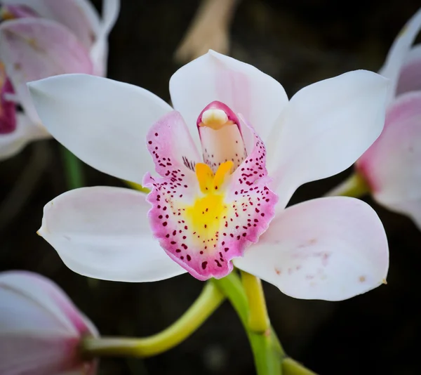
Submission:
[[[207,164],[196,164],[196,177],[203,195],[197,197],[192,206],[185,209],[189,228],[194,235],[207,245],[218,237],[220,221],[227,216],[229,207],[225,204],[222,186],[232,173],[234,163],[222,163],[216,173]]]

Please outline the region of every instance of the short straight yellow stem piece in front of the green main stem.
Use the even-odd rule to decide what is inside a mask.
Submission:
[[[248,299],[248,328],[256,334],[265,334],[270,329],[270,321],[262,282],[258,277],[244,271],[241,271],[241,281]]]

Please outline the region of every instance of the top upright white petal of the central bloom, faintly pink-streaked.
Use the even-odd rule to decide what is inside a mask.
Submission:
[[[196,138],[196,119],[214,100],[242,113],[265,142],[288,103],[281,84],[252,65],[215,51],[181,67],[170,80],[171,100]]]

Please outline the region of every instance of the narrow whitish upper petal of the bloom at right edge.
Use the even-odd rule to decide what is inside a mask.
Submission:
[[[402,65],[406,61],[410,47],[413,45],[417,34],[421,29],[421,9],[413,15],[406,25],[403,26],[401,32],[394,40],[392,47],[389,49],[385,65],[380,70],[380,74],[390,79],[390,91],[387,101],[390,102],[395,96],[396,86],[398,85],[399,75],[401,74]]]

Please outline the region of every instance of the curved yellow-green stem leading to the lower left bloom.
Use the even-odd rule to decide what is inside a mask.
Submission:
[[[145,338],[86,337],[81,343],[84,357],[130,356],[151,357],[184,341],[221,305],[225,295],[208,282],[190,308],[167,329]]]

